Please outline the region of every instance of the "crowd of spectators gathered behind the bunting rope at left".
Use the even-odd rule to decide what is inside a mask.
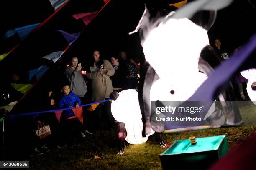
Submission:
[[[84,64],[79,62],[78,57],[70,58],[69,65],[62,72],[64,78],[58,80],[59,85],[49,91],[49,110],[79,108],[84,104],[107,100],[113,91],[137,87],[139,66],[133,59],[126,58],[125,51],[121,51],[119,56],[111,56],[110,61],[103,60],[97,50],[92,57],[93,62],[87,68],[86,75],[81,72]],[[30,155],[41,155],[50,148],[74,147],[77,142],[85,141],[86,135],[92,135],[96,130],[107,130],[117,123],[111,114],[110,101],[101,102],[92,114],[85,111],[88,107],[83,108],[83,123],[72,109],[64,110],[60,121],[54,112],[34,115],[35,127],[39,129],[49,125],[51,135],[38,140],[34,134]],[[97,125],[92,123],[95,120]]]

